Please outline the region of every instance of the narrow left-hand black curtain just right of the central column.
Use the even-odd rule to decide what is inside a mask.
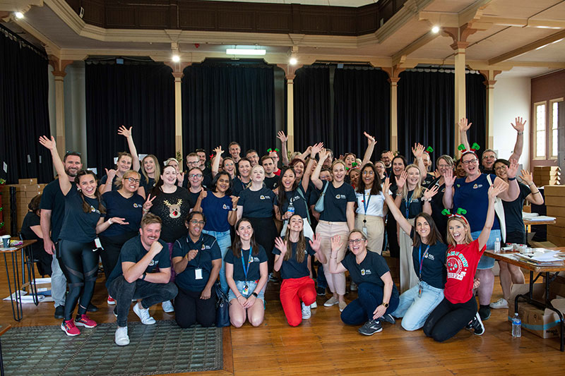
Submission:
[[[294,80],[295,150],[324,142],[332,147],[330,68],[304,66]]]

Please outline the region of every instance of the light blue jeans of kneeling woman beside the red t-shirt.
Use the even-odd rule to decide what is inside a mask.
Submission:
[[[419,296],[420,286],[422,287],[422,293]],[[420,281],[412,289],[400,295],[398,308],[391,315],[403,317],[402,327],[411,332],[423,327],[429,314],[443,300],[443,289],[437,289],[424,281]]]

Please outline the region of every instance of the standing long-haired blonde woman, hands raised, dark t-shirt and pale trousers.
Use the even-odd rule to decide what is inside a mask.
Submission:
[[[437,188],[426,190],[420,185],[420,169],[415,164],[410,164],[400,176],[396,178],[396,207],[400,209],[403,217],[414,225],[414,219],[422,212],[432,214],[429,202],[437,193]],[[414,264],[412,263],[412,238],[410,232],[398,229],[398,243],[400,244],[400,293],[412,289],[418,283]]]

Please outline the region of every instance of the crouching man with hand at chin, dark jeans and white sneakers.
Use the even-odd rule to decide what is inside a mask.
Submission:
[[[127,322],[132,299],[138,300],[133,312],[143,324],[152,325],[155,319],[149,315],[150,306],[177,296],[177,286],[169,282],[169,248],[159,239],[161,225],[155,214],[145,214],[139,236],[121,247],[118,263],[106,282],[110,296],[116,300],[118,329],[114,340],[118,346],[129,344]]]

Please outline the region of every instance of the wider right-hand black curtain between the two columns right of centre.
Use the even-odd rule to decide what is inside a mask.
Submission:
[[[333,78],[334,154],[353,152],[363,158],[367,131],[376,138],[376,152],[388,149],[391,116],[391,85],[388,75],[373,68],[336,69]]]

